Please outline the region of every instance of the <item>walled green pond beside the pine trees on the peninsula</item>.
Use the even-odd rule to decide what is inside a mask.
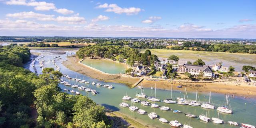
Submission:
[[[109,74],[125,73],[126,70],[126,64],[114,62],[112,60],[90,59],[83,60],[81,63]]]

